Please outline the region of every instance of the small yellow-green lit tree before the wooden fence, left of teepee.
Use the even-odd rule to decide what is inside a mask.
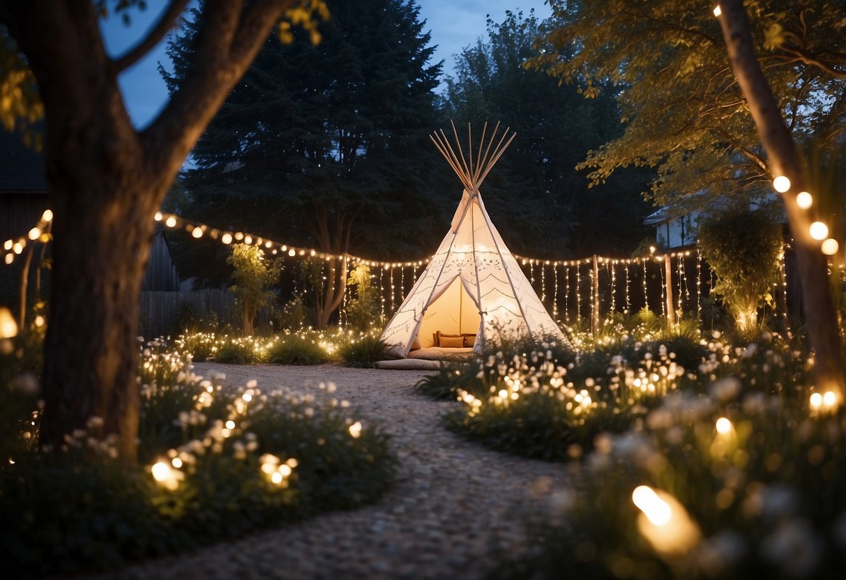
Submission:
[[[269,288],[279,282],[282,265],[278,258],[268,262],[263,249],[246,243],[233,244],[226,263],[235,269],[235,284],[229,290],[238,296],[244,314],[244,336],[250,336],[258,309],[270,304],[275,296]]]

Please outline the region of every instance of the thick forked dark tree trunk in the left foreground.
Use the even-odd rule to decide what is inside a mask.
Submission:
[[[156,121],[137,132],[118,74],[162,40],[187,3],[172,0],[149,35],[116,59],[103,48],[95,3],[0,3],[0,22],[36,75],[47,117],[54,260],[42,445],[60,445],[97,416],[101,435],[117,435],[121,456],[135,459],[135,340],[152,216],[293,0],[206,0],[184,82]]]

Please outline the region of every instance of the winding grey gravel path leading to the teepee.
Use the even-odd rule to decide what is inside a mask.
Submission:
[[[332,365],[281,367],[195,364],[222,372],[224,384],[258,380],[259,388],[308,389],[332,381],[339,399],[393,435],[401,462],[380,501],[283,525],[229,544],[146,561],[109,578],[460,578],[485,577],[491,550],[525,547],[519,512],[543,506],[566,483],[561,465],[488,451],[445,430],[441,415],[457,402],[416,394],[426,373],[347,369]]]

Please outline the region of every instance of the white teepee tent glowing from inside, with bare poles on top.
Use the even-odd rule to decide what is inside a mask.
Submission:
[[[499,123],[487,141],[486,130],[487,123],[474,152],[468,125],[466,157],[454,124],[458,153],[443,130],[431,135],[464,184],[464,194],[452,227],[382,331],[390,357],[406,356],[415,338],[421,347],[433,346],[432,335],[437,331],[470,335],[477,353],[486,340],[497,337],[552,337],[567,342],[485,211],[479,186],[514,140],[513,133],[508,137],[508,129],[497,140]]]

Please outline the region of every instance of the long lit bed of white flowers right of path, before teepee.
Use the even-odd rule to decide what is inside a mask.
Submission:
[[[626,337],[581,353],[512,349],[442,370],[419,387],[463,403],[446,418],[461,435],[525,457],[568,460],[591,451],[596,435],[642,423],[667,394],[702,393],[720,377],[736,377],[744,391],[795,401],[804,396],[809,371],[802,350],[777,335],[736,347],[715,333],[708,341]]]

